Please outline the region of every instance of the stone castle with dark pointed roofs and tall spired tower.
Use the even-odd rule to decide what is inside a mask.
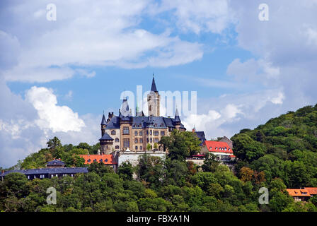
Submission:
[[[151,91],[147,95],[149,116],[144,116],[143,111],[139,112],[138,107],[133,116],[129,110],[127,98],[122,101],[118,116],[109,112],[106,120],[105,114],[103,114],[100,124],[100,154],[109,155],[125,150],[142,152],[146,150],[148,143],[153,149],[154,144],[159,143],[162,136],[169,136],[173,129],[185,131],[177,108],[174,118],[160,116],[160,100],[161,95],[156,89],[153,76]],[[157,149],[160,150],[161,147],[158,145]]]

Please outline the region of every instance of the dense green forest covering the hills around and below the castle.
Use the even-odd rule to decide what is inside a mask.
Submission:
[[[11,173],[0,182],[0,211],[36,212],[316,212],[317,196],[294,202],[287,188],[317,186],[317,105],[270,119],[255,129],[242,129],[232,138],[234,170],[205,156],[198,167],[186,157],[199,152],[192,132],[173,131],[160,145],[165,160],[143,155],[139,165],[124,163],[113,169],[94,162],[87,174],[28,180]],[[61,158],[67,167],[84,166],[79,154],[97,153],[99,145],[62,145],[54,137],[47,148],[33,153],[10,169],[45,167]],[[135,175],[136,177],[133,177]],[[47,188],[57,190],[57,204],[46,202]],[[269,203],[260,204],[259,189],[269,191]]]

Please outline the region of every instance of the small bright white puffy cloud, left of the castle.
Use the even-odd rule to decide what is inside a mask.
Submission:
[[[57,98],[52,90],[33,86],[26,93],[26,100],[38,111],[39,119],[35,123],[40,129],[51,129],[55,133],[81,131],[85,126],[83,120],[79,119],[78,113],[74,113],[67,106],[57,105]]]

